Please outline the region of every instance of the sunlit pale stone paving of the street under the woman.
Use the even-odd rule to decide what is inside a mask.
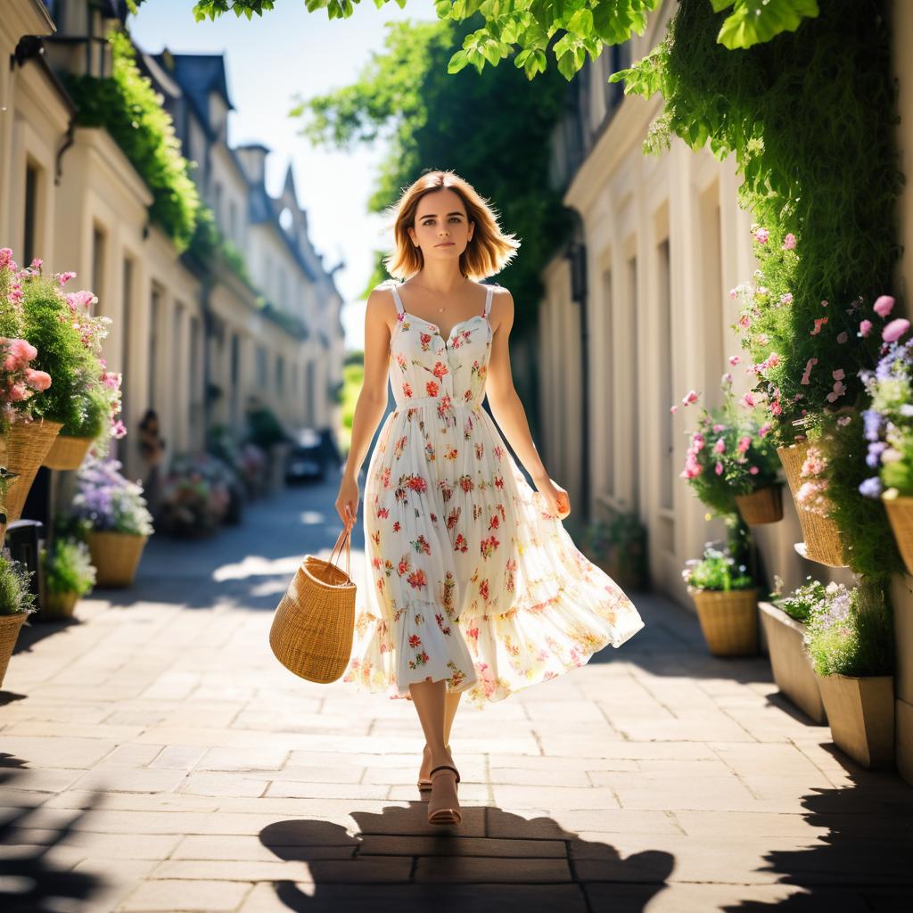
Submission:
[[[619,650],[460,711],[464,822],[429,827],[412,705],[269,651],[289,574],[335,539],[335,489],[153,539],[131,591],[23,630],[0,692],[0,909],[913,908],[913,791],[655,596]]]

